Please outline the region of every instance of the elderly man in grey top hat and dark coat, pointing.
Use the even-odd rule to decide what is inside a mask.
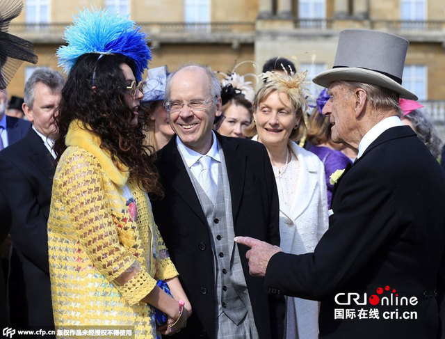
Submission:
[[[358,149],[332,178],[330,227],[314,253],[236,238],[270,292],[321,301],[320,338],[443,336],[445,172],[399,118],[399,97],[416,99],[401,85],[408,45],[341,31],[334,68],[314,79],[329,88],[332,139]]]

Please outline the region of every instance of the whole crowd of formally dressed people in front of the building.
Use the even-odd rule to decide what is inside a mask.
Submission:
[[[282,57],[147,70],[145,33],[106,10],[65,40],[66,77],[33,72],[8,116],[0,81],[3,327],[445,338],[445,159],[401,83],[407,40],[341,31],[316,98]],[[35,63],[21,46],[8,58]],[[391,290],[415,319],[385,318]],[[337,317],[346,294],[380,318]]]

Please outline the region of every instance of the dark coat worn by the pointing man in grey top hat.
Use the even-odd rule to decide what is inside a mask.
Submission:
[[[343,173],[330,228],[314,253],[273,255],[266,285],[321,300],[320,338],[436,338],[444,293],[444,202],[445,172],[437,160],[410,127],[388,129]],[[348,303],[347,294],[336,302],[339,292],[356,292],[366,304]],[[391,294],[392,306],[369,301]],[[395,297],[416,297],[418,303],[394,306]],[[380,318],[334,318],[335,309],[355,309],[357,315],[360,308],[376,308]],[[396,310],[398,317],[416,312],[417,320],[384,319],[396,316],[384,312]]]

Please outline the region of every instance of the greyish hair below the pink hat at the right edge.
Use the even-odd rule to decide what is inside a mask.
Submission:
[[[420,109],[414,109],[414,111],[407,113],[404,118],[411,121],[414,132],[419,136],[419,139],[430,150],[432,156],[438,158],[442,151],[442,140],[430,120]]]

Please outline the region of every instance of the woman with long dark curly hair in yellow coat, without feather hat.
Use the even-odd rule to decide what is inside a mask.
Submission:
[[[119,53],[85,53],[63,88],[48,221],[54,322],[63,338],[79,330],[156,338],[155,308],[167,316],[164,334],[191,313],[147,195],[163,191],[138,124],[138,66]],[[173,298],[156,280],[167,281]]]

